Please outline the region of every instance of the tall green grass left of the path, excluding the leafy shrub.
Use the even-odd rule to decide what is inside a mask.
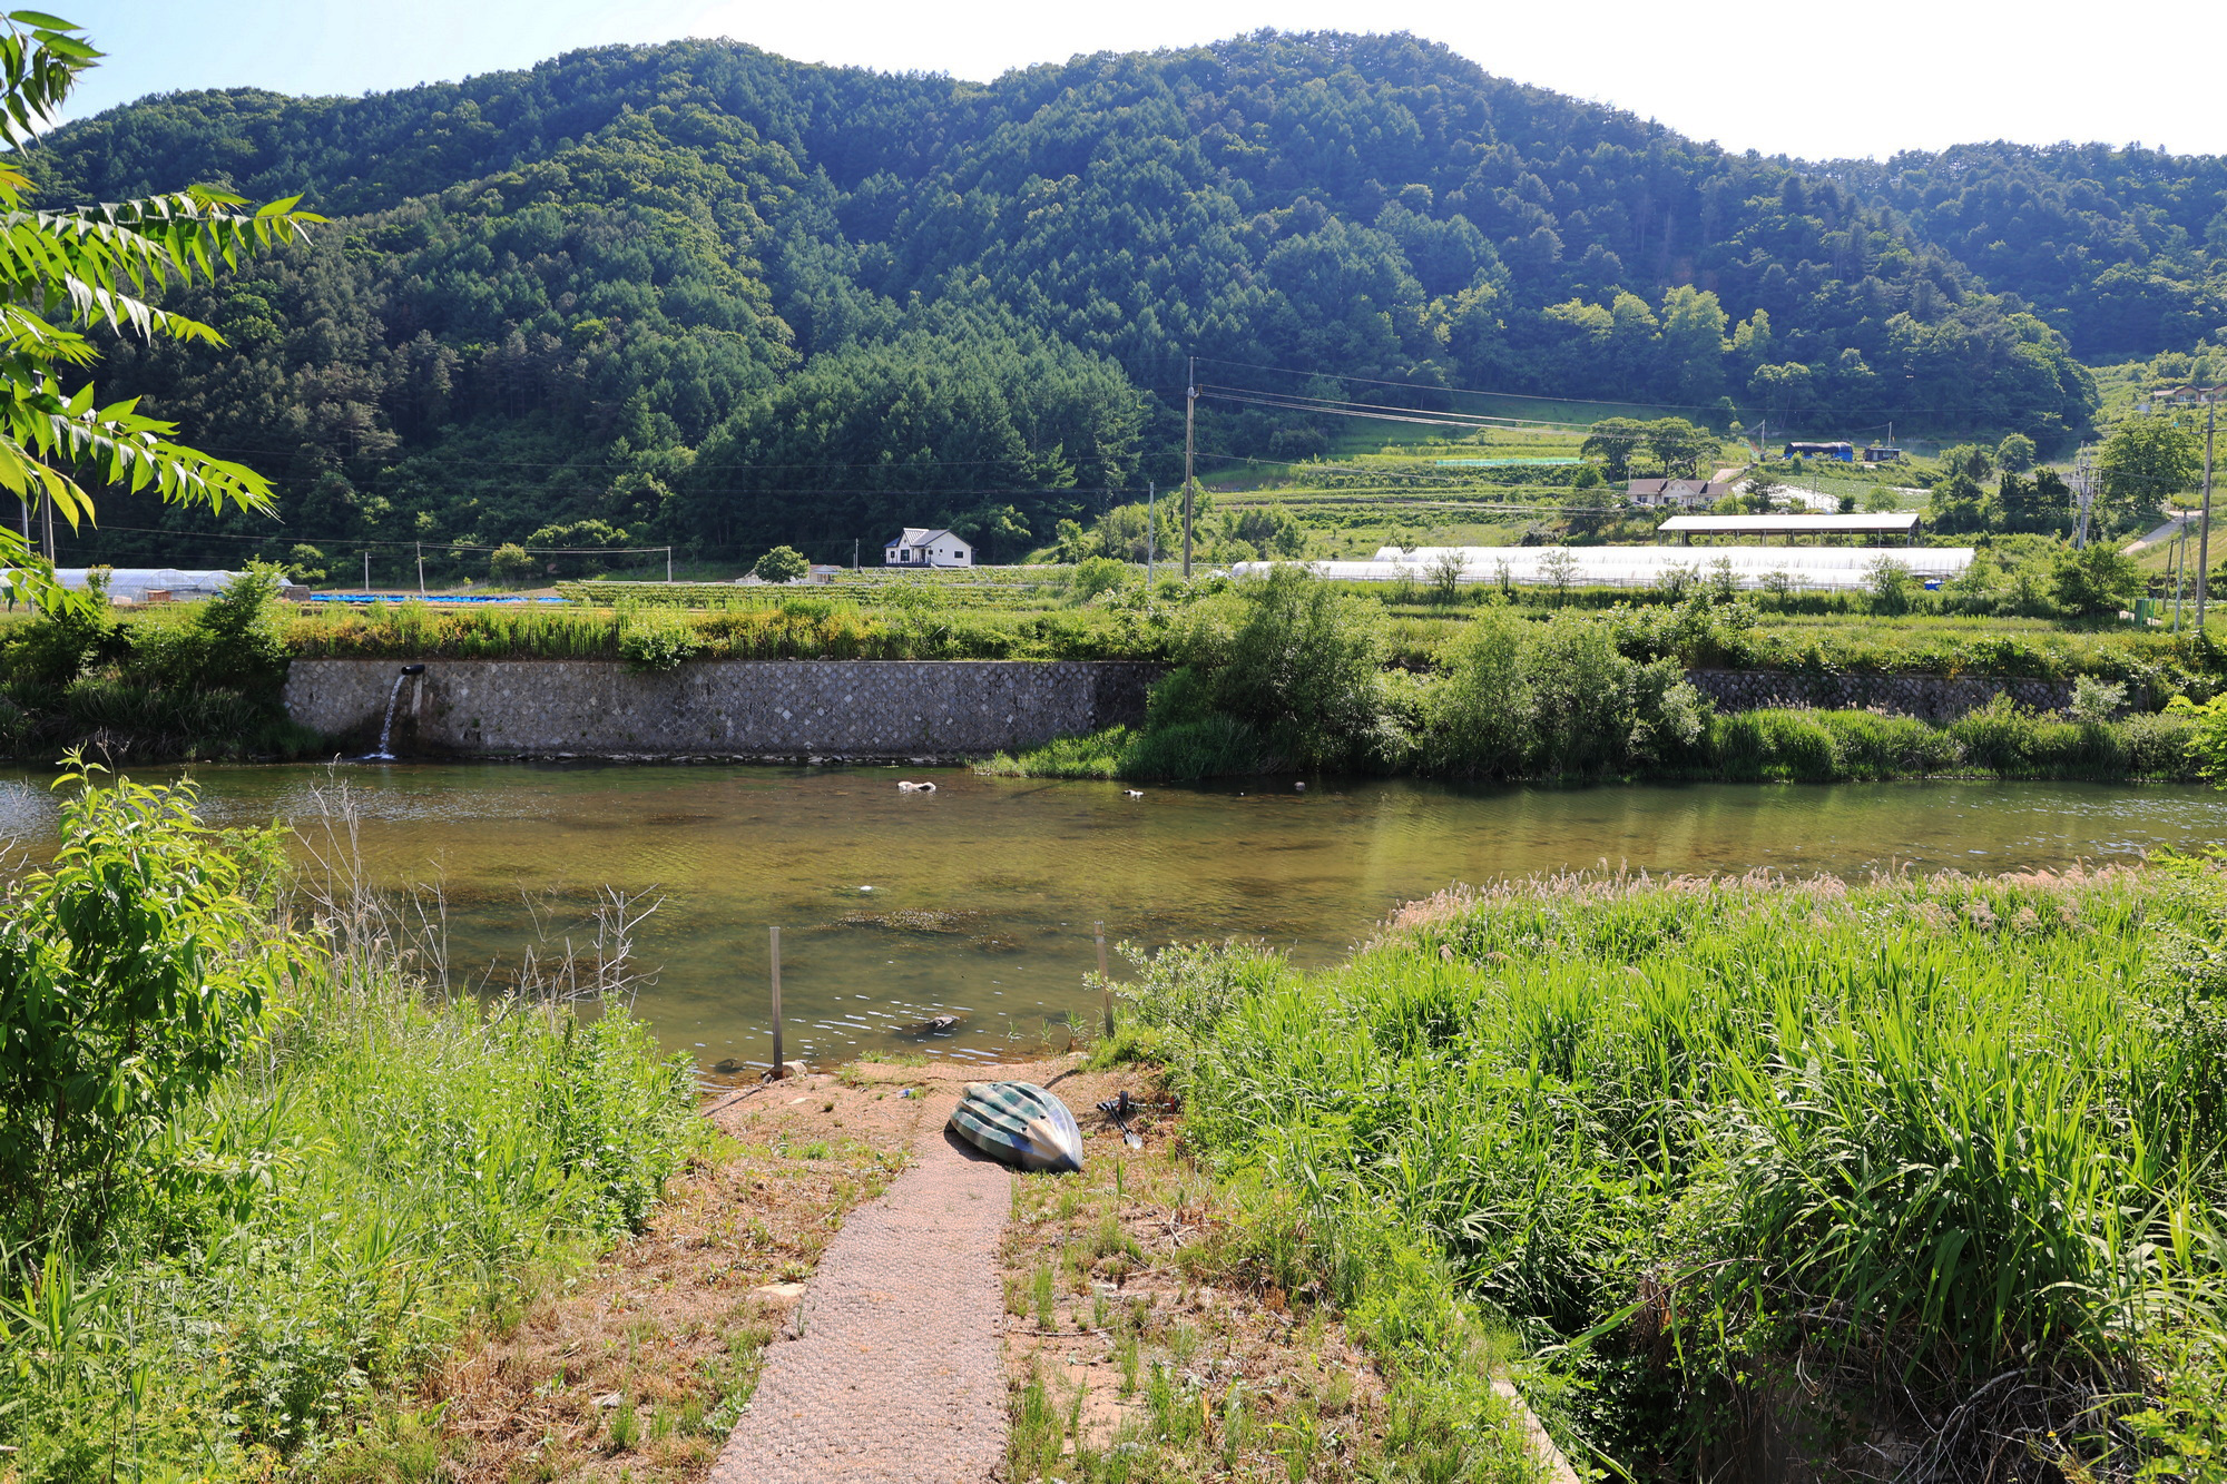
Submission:
[[[0,1477],[314,1473],[532,1283],[648,1217],[693,1076],[617,998],[481,1005],[350,887],[265,1034],[134,1152],[96,1241],[0,1210]],[[606,963],[617,987],[619,963]]]

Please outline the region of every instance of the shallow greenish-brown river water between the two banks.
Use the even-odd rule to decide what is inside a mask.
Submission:
[[[441,882],[450,965],[479,983],[583,943],[597,887],[664,898],[639,934],[646,1014],[713,1065],[768,1049],[766,927],[782,927],[786,1054],[995,1058],[1089,1021],[1109,940],[1260,938],[1343,956],[1450,882],[1655,873],[2007,871],[2227,838],[2227,795],[2125,784],[1463,789],[1405,780],[1145,789],[944,769],[376,764],[196,769],[216,822],[321,816],[345,778],[385,882]],[[935,793],[900,793],[933,778]],[[0,775],[0,838],[51,847],[53,798]],[[528,907],[534,905],[534,909]],[[552,911],[555,907],[555,911]],[[1116,963],[1116,978],[1120,967]],[[904,1027],[960,1016],[953,1034]],[[1049,1027],[1049,1029],[1047,1029]]]

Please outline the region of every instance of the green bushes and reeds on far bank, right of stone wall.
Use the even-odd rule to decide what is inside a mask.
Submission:
[[[1784,655],[1808,677],[1844,673],[1813,640],[1795,655],[1757,635],[1757,611],[1695,595],[1677,606],[1574,608],[1530,622],[1481,608],[1425,666],[1385,668],[1381,615],[1298,568],[1200,604],[1171,635],[1178,666],[1151,693],[1138,729],[1067,738],[984,764],[1042,778],[1205,778],[1274,771],[1419,771],[1441,778],[1742,778],[1837,780],[1929,773],[1998,778],[2185,778],[2196,722],[2122,715],[2127,684],[2084,675],[2071,715],[2020,709],[2009,695],[1946,726],[1868,711],[1717,713],[1688,680],[1693,666]],[[2015,675],[2056,660],[2049,648],[1971,635]],[[1933,640],[1926,673],[1960,673]],[[1909,651],[1904,651],[1909,653]],[[2131,653],[2131,651],[2120,651]],[[2169,684],[2216,686],[2203,671]],[[1791,660],[1791,662],[1788,662]],[[2162,700],[2158,702],[2162,704]]]

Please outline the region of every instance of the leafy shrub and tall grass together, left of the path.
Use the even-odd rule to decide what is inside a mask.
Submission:
[[[610,943],[481,1005],[345,858],[65,787],[0,902],[0,1473],[428,1477],[399,1397],[646,1221],[690,1070]]]

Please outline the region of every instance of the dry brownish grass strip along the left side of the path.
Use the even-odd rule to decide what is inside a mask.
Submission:
[[[884,1070],[895,1072],[895,1070]],[[902,1078],[775,1083],[713,1114],[648,1230],[579,1272],[537,1272],[327,1473],[459,1484],[693,1484],[710,1471],[793,1295],[860,1201],[906,1163]],[[918,1078],[913,1078],[918,1081]]]

